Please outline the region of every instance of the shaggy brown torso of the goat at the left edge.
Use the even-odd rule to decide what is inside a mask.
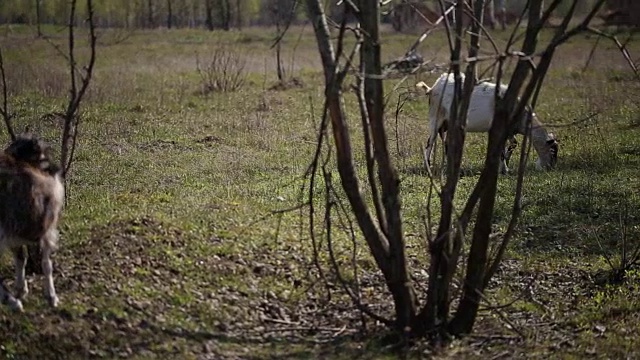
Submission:
[[[64,202],[59,175],[0,158],[0,231],[5,239],[38,242],[55,231]]]

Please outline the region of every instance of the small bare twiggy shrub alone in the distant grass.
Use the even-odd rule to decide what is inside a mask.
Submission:
[[[246,59],[240,54],[221,46],[216,47],[209,60],[204,63],[196,58],[202,94],[240,89],[247,79],[246,64]]]

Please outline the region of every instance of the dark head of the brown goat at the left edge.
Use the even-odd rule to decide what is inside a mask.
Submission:
[[[4,153],[51,174],[59,171],[59,167],[51,163],[51,147],[31,133],[18,135]]]

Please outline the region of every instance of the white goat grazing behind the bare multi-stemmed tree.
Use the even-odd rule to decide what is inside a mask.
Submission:
[[[464,82],[464,74],[460,74],[461,81]],[[431,166],[431,154],[433,152],[437,135],[445,139],[447,131],[447,122],[449,121],[449,110],[453,102],[453,94],[455,88],[455,79],[453,74],[444,73],[440,75],[438,80],[432,87],[429,87],[423,81],[416,84],[418,88],[422,88],[429,95],[429,139],[425,148],[425,161],[428,167]],[[493,122],[493,114],[495,110],[495,90],[496,84],[490,82],[481,82],[474,86],[467,112],[467,132],[489,132],[491,123]],[[504,95],[507,85],[500,86],[500,95]],[[516,129],[516,134],[526,134],[527,117],[530,110],[527,109],[522,119],[522,123]],[[550,169],[555,167],[558,159],[558,142],[553,133],[547,133],[542,127],[535,113],[531,114],[531,142],[533,148],[538,153],[536,165],[538,168]],[[507,163],[509,157],[517,145],[515,134],[509,136],[509,144],[507,149],[503,151],[501,171],[508,171]]]

